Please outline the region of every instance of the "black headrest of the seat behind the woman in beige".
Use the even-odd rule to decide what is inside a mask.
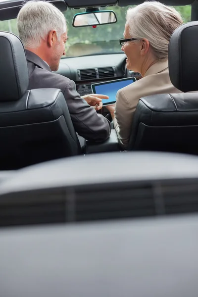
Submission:
[[[178,27],[168,49],[172,84],[183,92],[198,91],[198,21]]]

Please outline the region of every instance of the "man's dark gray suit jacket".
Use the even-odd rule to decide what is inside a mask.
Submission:
[[[100,142],[107,139],[111,132],[110,122],[80,97],[75,83],[67,77],[51,72],[49,65],[32,51],[26,50],[26,55],[28,89],[60,89],[66,99],[75,131],[87,140]]]

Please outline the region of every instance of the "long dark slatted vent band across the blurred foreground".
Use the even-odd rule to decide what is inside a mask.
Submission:
[[[17,199],[16,199],[17,197]],[[17,200],[17,202],[16,202]],[[0,226],[198,212],[197,181],[117,183],[1,196]]]

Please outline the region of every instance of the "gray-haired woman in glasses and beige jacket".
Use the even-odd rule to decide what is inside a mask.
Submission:
[[[175,8],[157,1],[146,1],[127,11],[120,45],[127,56],[126,68],[141,73],[143,78],[120,89],[115,106],[106,106],[125,149],[139,99],[154,94],[181,93],[170,81],[168,44],[173,31],[182,24]]]

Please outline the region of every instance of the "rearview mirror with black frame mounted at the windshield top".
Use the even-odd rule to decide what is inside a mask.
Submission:
[[[83,12],[74,15],[72,20],[73,27],[98,26],[104,24],[116,23],[117,18],[112,10],[103,10],[95,12]]]

